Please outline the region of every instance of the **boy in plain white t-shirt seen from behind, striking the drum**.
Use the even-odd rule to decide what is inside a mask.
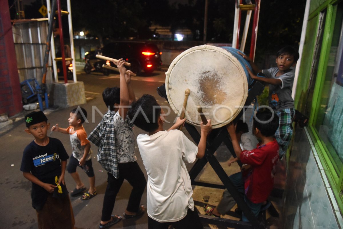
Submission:
[[[137,144],[148,175],[147,214],[149,229],[203,228],[194,210],[193,190],[185,165],[205,154],[206,136],[211,120],[201,123],[201,137],[194,145],[182,131],[176,130],[185,122],[177,119],[168,130],[163,130],[164,111],[151,95],[143,95],[129,110],[132,122],[148,132],[137,137]]]

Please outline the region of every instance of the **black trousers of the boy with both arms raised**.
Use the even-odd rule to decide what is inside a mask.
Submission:
[[[126,208],[129,212],[137,212],[141,202],[141,198],[145,189],[146,180],[144,174],[139,168],[137,161],[128,163],[119,163],[119,178],[115,178],[111,173],[107,173],[107,188],[104,196],[103,212],[101,216],[102,221],[108,221],[111,219],[111,214],[116,201],[116,196],[119,189],[126,179],[132,186],[129,203]]]

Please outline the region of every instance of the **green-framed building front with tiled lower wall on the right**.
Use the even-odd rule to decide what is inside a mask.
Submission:
[[[343,1],[308,0],[289,152],[285,228],[343,228]],[[307,20],[306,20],[307,19]]]

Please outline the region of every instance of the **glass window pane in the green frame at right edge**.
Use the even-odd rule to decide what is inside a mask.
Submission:
[[[342,20],[343,3],[340,3],[337,6],[330,56],[324,76],[324,83],[322,84],[320,105],[316,120],[314,120],[315,128],[319,132],[321,140],[325,143],[338,174],[342,171],[343,165]]]

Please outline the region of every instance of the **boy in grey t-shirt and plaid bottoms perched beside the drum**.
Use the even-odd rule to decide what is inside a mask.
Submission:
[[[292,119],[295,114],[292,87],[294,81],[294,67],[299,59],[299,53],[291,46],[280,49],[276,54],[277,67],[260,70],[252,60],[238,52],[244,59],[249,61],[253,72],[247,67],[252,79],[269,84],[269,106],[279,117],[279,128],[275,132],[275,138],[280,146],[280,158],[286,153],[289,141],[293,134]],[[258,74],[262,72],[263,74]],[[257,75],[256,75],[257,74]],[[262,76],[262,77],[261,77]]]

